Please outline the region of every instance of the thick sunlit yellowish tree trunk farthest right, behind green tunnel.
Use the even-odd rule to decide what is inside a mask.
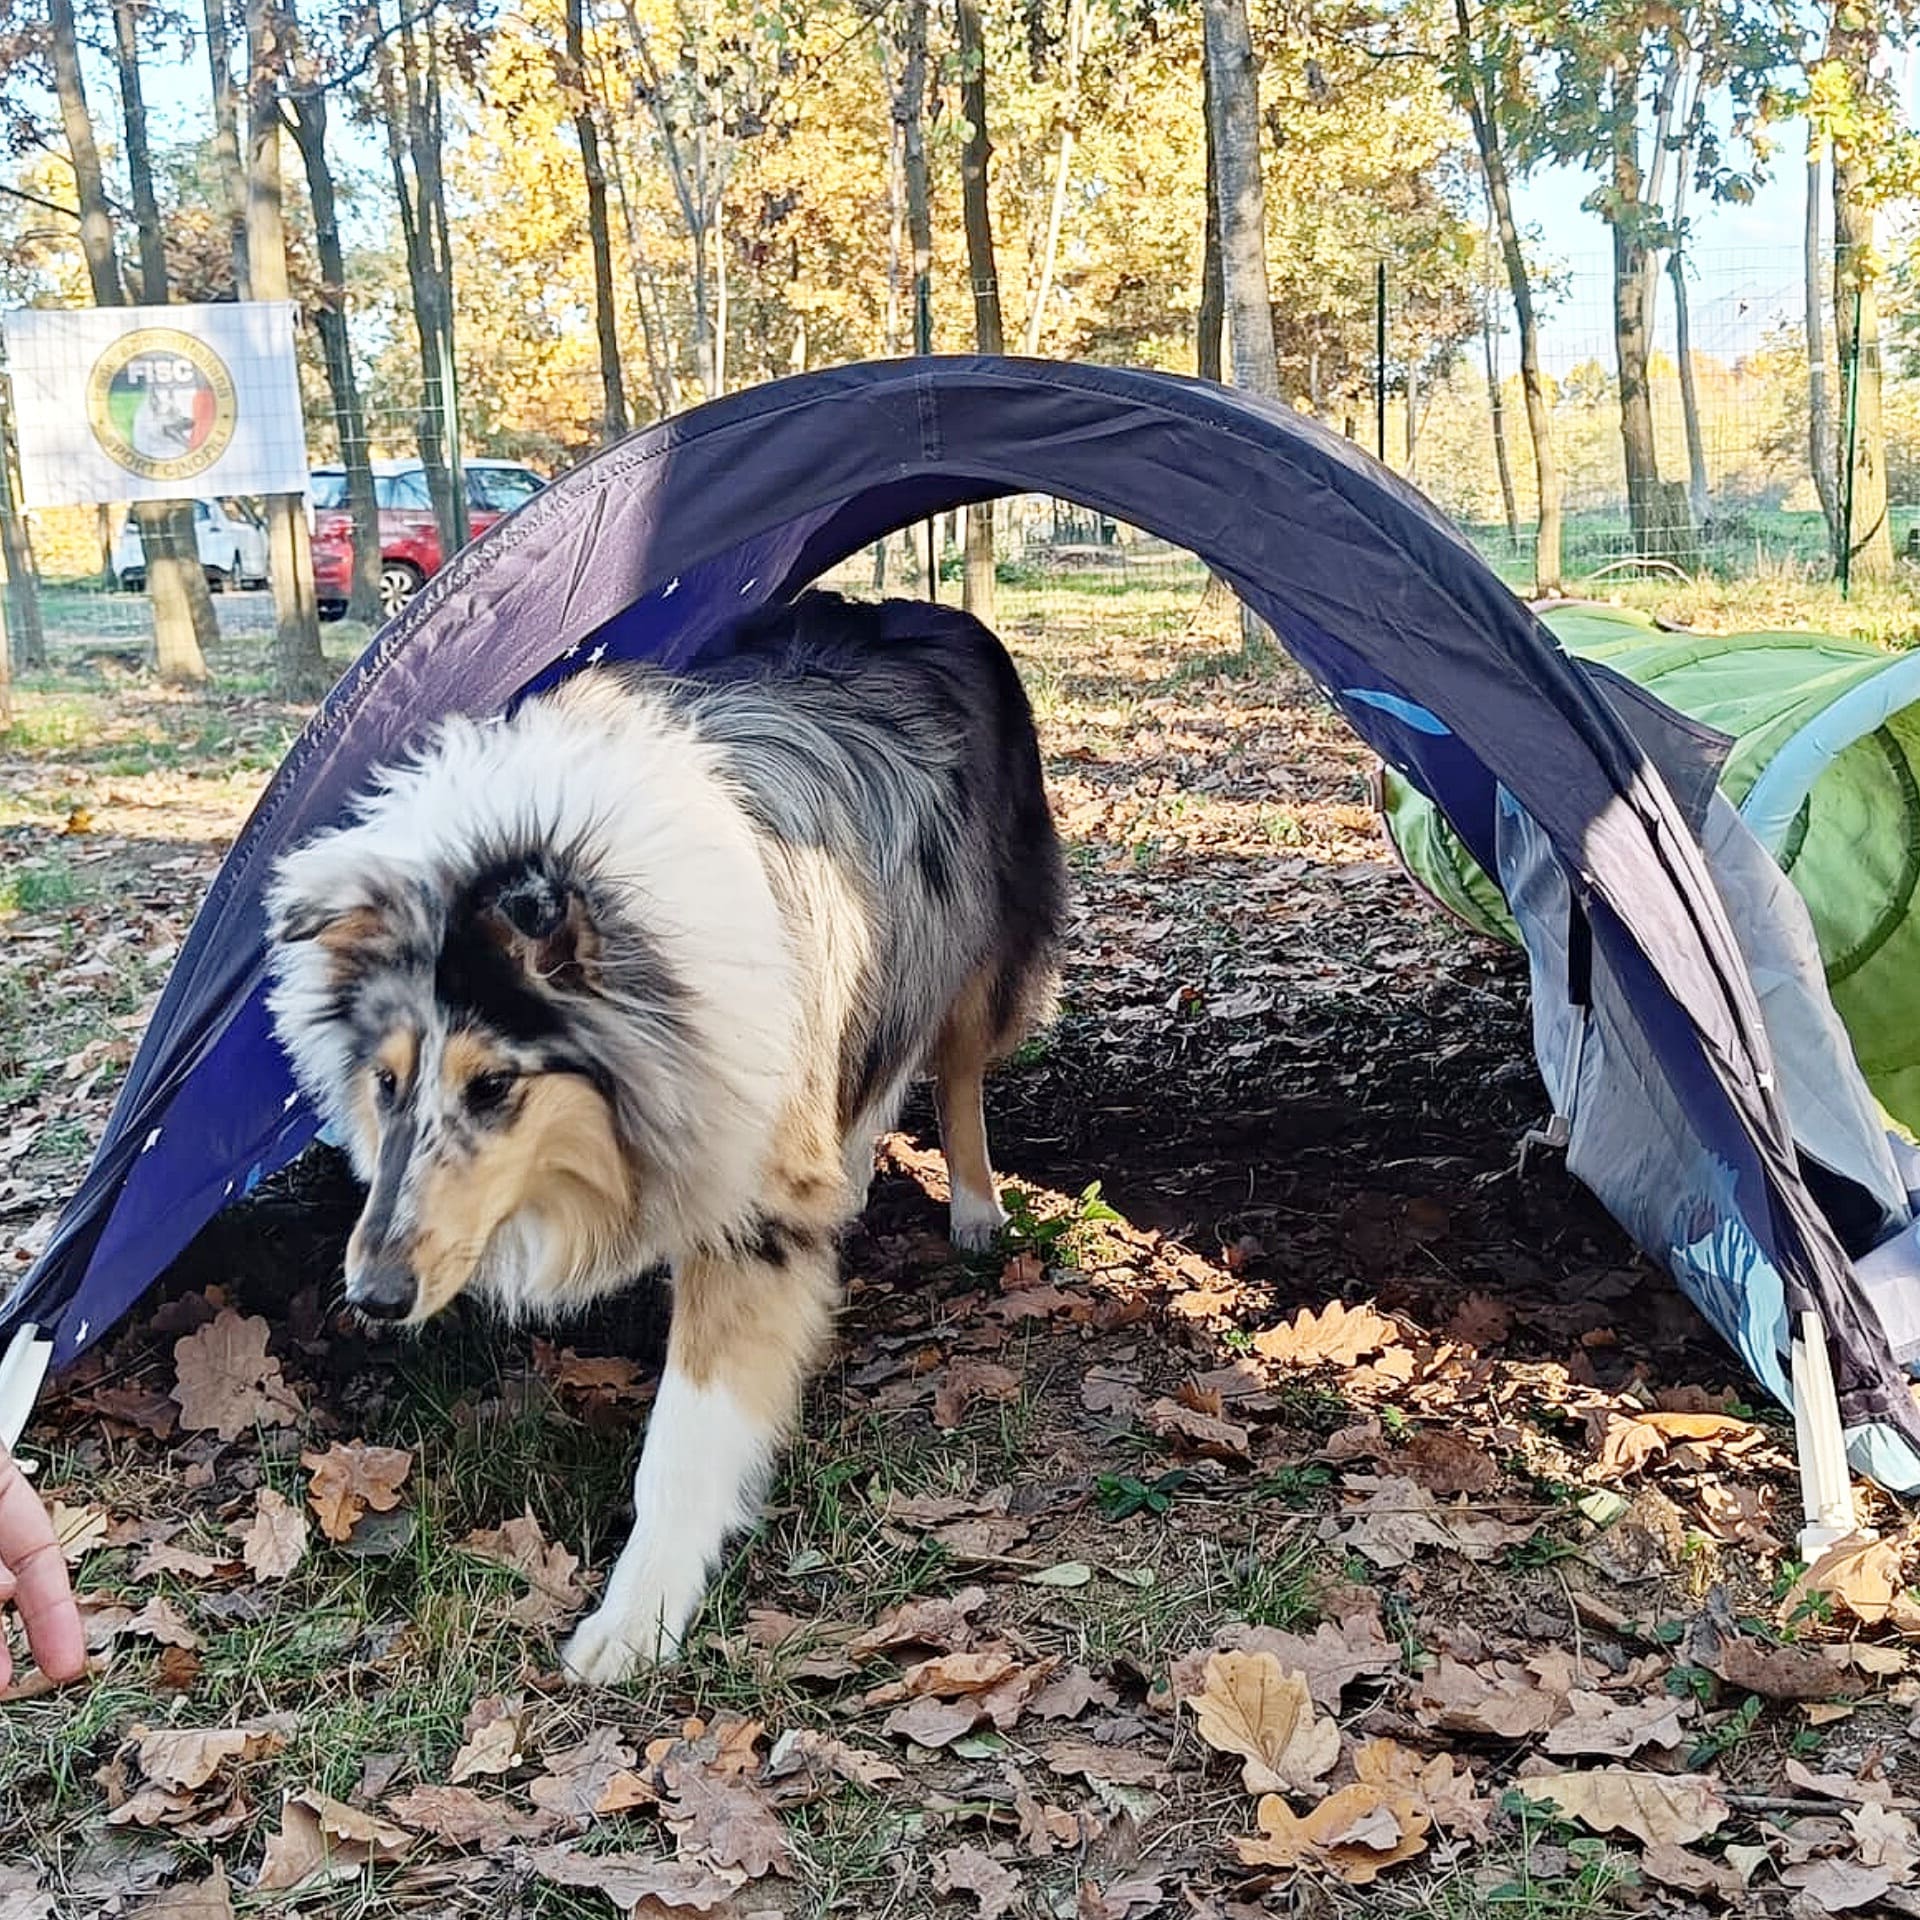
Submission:
[[[1828,58],[1864,102],[1872,88],[1880,35],[1866,13],[1834,10]],[[1851,428],[1853,470],[1841,449],[1841,515],[1847,580],[1885,580],[1893,572],[1893,526],[1887,520],[1887,436],[1882,417],[1880,261],[1874,253],[1874,156],[1834,140],[1834,336],[1839,346],[1841,411]]]

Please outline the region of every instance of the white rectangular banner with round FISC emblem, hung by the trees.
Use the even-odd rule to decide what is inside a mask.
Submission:
[[[6,317],[27,507],[303,493],[286,300]]]

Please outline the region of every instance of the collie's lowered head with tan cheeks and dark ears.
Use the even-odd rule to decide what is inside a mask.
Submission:
[[[419,1323],[472,1284],[507,1306],[586,1288],[628,1231],[634,1160],[582,877],[543,849],[422,877],[359,829],[292,854],[269,918],[275,1020],[369,1185],[349,1304]]]

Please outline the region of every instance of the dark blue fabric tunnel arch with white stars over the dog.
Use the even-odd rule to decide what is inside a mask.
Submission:
[[[1603,1167],[1590,1183],[1799,1402],[1809,1505],[1841,1524],[1836,1388],[1855,1463],[1920,1484],[1920,1417],[1855,1269],[1870,1248],[1843,1244],[1795,1140],[1699,847],[1720,737],[1578,666],[1434,507],[1315,422],[1169,374],[1020,359],[847,367],[664,420],[461,553],[372,641],[234,843],[86,1179],[0,1308],[15,1421],[44,1361],[106,1334],[213,1213],[311,1140],[267,1020],[261,897],[371,768],[445,714],[499,714],[589,660],[710,657],[741,614],[877,536],[1016,492],[1200,555],[1490,874],[1519,872],[1501,847],[1524,829],[1519,891],[1551,935],[1528,943],[1536,1006],[1565,1010],[1536,1021],[1542,1046],[1548,1027],[1555,1050],[1586,1037],[1657,1104],[1663,1150],[1632,1158],[1632,1190],[1609,1190]],[[1542,1066],[1555,1127],[1578,1139],[1569,1108],[1592,1058]],[[1912,1217],[1905,1192],[1884,1165],[1866,1185],[1866,1238],[1891,1240]]]

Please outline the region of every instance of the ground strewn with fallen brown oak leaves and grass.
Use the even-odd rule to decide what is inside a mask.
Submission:
[[[0,1705],[0,1914],[1920,1910],[1899,1551],[1795,1584],[1778,1411],[1519,1173],[1517,960],[1198,578],[1000,624],[1077,891],[1016,1233],[947,1248],[914,1108],[691,1655],[555,1674],[662,1304],[371,1338],[309,1158],[29,1432],[98,1670]],[[12,1269],[298,720],[75,680],[4,737]]]

